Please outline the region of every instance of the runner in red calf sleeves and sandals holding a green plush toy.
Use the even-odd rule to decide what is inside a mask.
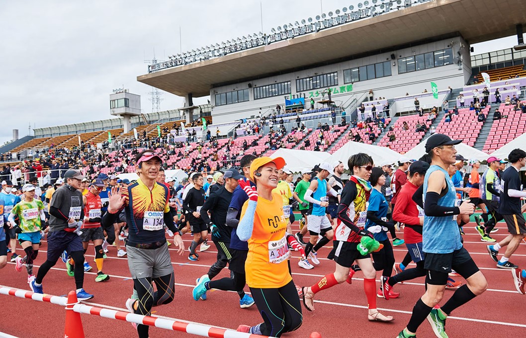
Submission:
[[[329,254],[329,259],[336,262],[334,273],[323,276],[316,284],[303,288],[304,305],[309,311],[314,310],[314,295],[321,290],[326,290],[341,284],[352,278],[355,273],[353,263],[356,261],[363,271],[363,289],[367,296],[369,321],[390,322],[392,316],[383,315],[376,308],[376,271],[372,265],[369,254],[362,255],[358,251],[358,244],[362,236],[373,238],[370,231],[363,229],[367,218],[366,203],[371,191],[368,181],[373,161],[366,153],[352,155],[348,162],[348,167],[352,172],[349,181],[341,192],[340,205],[338,206],[338,226],[336,227],[336,237],[333,242],[333,249]],[[352,269],[351,269],[352,267]]]

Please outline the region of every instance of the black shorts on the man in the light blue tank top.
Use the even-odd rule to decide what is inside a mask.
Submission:
[[[425,253],[424,269],[428,270],[426,283],[432,285],[446,285],[451,270],[455,270],[464,279],[479,271],[464,247],[451,253]]]

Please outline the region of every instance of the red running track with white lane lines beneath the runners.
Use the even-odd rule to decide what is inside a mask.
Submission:
[[[464,245],[471,253],[486,276],[489,289],[481,296],[472,300],[452,313],[448,319],[447,332],[450,337],[476,336],[526,336],[522,306],[524,295],[519,294],[513,285],[511,272],[495,267],[489,257],[486,245],[480,241],[480,236],[473,228],[474,224],[464,227]],[[498,224],[500,230],[492,236],[500,240],[507,235],[505,224]],[[294,229],[298,225],[295,222]],[[402,237],[403,234],[399,234]],[[190,235],[184,236],[185,245],[191,241]],[[210,244],[212,244],[210,242]],[[47,243],[44,241],[35,262],[35,271],[45,260]],[[93,246],[88,249],[87,261],[95,267],[93,262]],[[173,248],[173,245],[170,247]],[[85,274],[84,288],[95,295],[86,304],[103,306],[114,310],[126,311],[124,303],[131,294],[132,281],[126,258],[117,258],[116,250],[110,247],[108,259],[104,261],[104,272],[111,278],[108,282],[95,283],[95,273]],[[327,257],[331,247],[322,248],[318,257]],[[511,261],[526,267],[526,244],[521,243]],[[18,251],[18,250],[17,250]],[[187,251],[188,252],[188,251]],[[239,308],[239,297],[234,292],[209,291],[206,301],[194,301],[191,295],[196,278],[208,272],[208,268],[216,259],[214,245],[200,254],[197,262],[188,261],[188,253],[179,256],[175,249],[170,249],[171,260],[176,274],[176,299],[174,302],[153,309],[154,316],[165,316],[170,319],[204,323],[207,325],[236,329],[239,324],[253,325],[261,321],[256,306],[249,309]],[[404,245],[395,248],[395,257],[400,262],[406,253]],[[297,265],[299,254],[293,253],[291,260],[292,276],[296,284],[312,285],[321,276],[331,273],[335,263],[320,259],[321,264],[312,270],[299,268]],[[229,276],[225,269],[217,278]],[[377,274],[379,276],[379,273]],[[385,314],[395,317],[391,323],[369,322],[367,320],[367,301],[363,293],[362,275],[355,274],[352,285],[342,283],[316,295],[316,311],[303,310],[304,323],[295,332],[284,336],[309,337],[312,331],[318,331],[323,338],[349,337],[351,335],[370,337],[394,337],[407,324],[414,303],[424,292],[423,278],[399,284],[395,290],[400,292],[400,298],[386,301],[377,299],[378,308]],[[458,277],[459,280],[462,280]],[[12,288],[29,290],[25,269],[16,272],[14,264],[9,263],[0,270],[0,284]],[[44,292],[54,295],[65,295],[75,289],[73,277],[66,275],[65,266],[59,260],[44,279]],[[378,281],[379,285],[379,281]],[[246,291],[248,287],[245,288]],[[448,299],[453,293],[446,291]],[[65,310],[58,305],[18,299],[12,296],[0,295],[0,306],[3,315],[0,316],[0,331],[18,337],[62,337],[64,334]],[[98,316],[82,315],[86,337],[120,336],[134,337],[135,330],[129,323],[104,319]],[[190,335],[179,332],[169,332],[157,328],[150,328],[151,337],[188,337]],[[419,331],[419,337],[432,337],[429,323],[424,322]]]

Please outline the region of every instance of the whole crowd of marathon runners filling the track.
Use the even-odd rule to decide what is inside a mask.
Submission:
[[[199,301],[206,300],[208,290],[236,291],[240,308],[256,304],[260,323],[240,325],[238,331],[275,337],[295,331],[302,324],[302,311],[315,311],[317,293],[351,284],[361,271],[367,318],[378,322],[391,322],[393,316],[378,310],[377,298],[396,299],[397,283],[425,276],[426,291],[414,300],[410,320],[399,327],[398,337],[416,336],[426,319],[437,337],[447,337],[447,317],[488,288],[463,247],[463,227],[470,216],[481,240],[491,243],[487,250],[496,266],[511,270],[510,283],[519,293],[525,293],[526,282],[526,271],[510,261],[526,236],[526,207],[521,203],[526,192],[519,175],[526,152],[515,149],[507,161],[490,157],[480,175],[479,161],[457,153],[460,142],[434,134],[419,160],[374,163],[371,154],[357,153],[347,163],[319,163],[300,173],[296,182],[283,158],[245,155],[238,167],[206,177],[190,173],[176,183],[165,176],[163,159],[154,150],[135,155],[138,179],[131,182],[67,170],[64,179],[46,191],[35,180],[14,192],[13,183],[5,180],[0,193],[0,268],[8,260],[16,271],[25,267],[28,288],[44,293],[45,276],[61,259],[74,277],[77,298],[88,300],[94,294],[84,290],[84,273],[93,267],[85,254],[95,249],[95,281],[108,282],[105,253],[115,244],[118,256],[127,257],[134,282],[126,308],[149,315],[153,306],[174,300],[176,275],[168,246],[197,261],[212,241],[217,261],[207,274],[196,276],[192,296]],[[466,165],[472,171],[464,179],[461,169]],[[344,183],[346,167],[350,175]],[[476,208],[481,216],[474,214]],[[301,213],[297,233],[291,228],[294,209]],[[509,235],[497,242],[491,233],[501,220]],[[401,229],[403,239],[396,234]],[[189,248],[182,239],[185,233],[193,238]],[[34,269],[44,238],[47,257]],[[312,280],[312,285],[295,284],[291,251],[301,255],[299,267],[311,270],[320,264],[319,249],[331,241],[328,258],[334,263],[324,264],[334,264],[334,272]],[[396,263],[393,247],[401,245],[407,254]],[[409,268],[411,262],[415,267]],[[230,277],[216,279],[227,266]],[[246,285],[250,294],[244,291]],[[447,300],[444,289],[454,290]],[[138,336],[148,337],[148,327],[136,325]]]

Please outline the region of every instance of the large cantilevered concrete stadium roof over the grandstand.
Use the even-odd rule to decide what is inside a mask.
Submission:
[[[526,24],[524,0],[436,0],[267,46],[140,75],[137,80],[184,96],[207,96],[237,83],[330,64],[430,38],[461,35],[470,44],[516,34]]]

